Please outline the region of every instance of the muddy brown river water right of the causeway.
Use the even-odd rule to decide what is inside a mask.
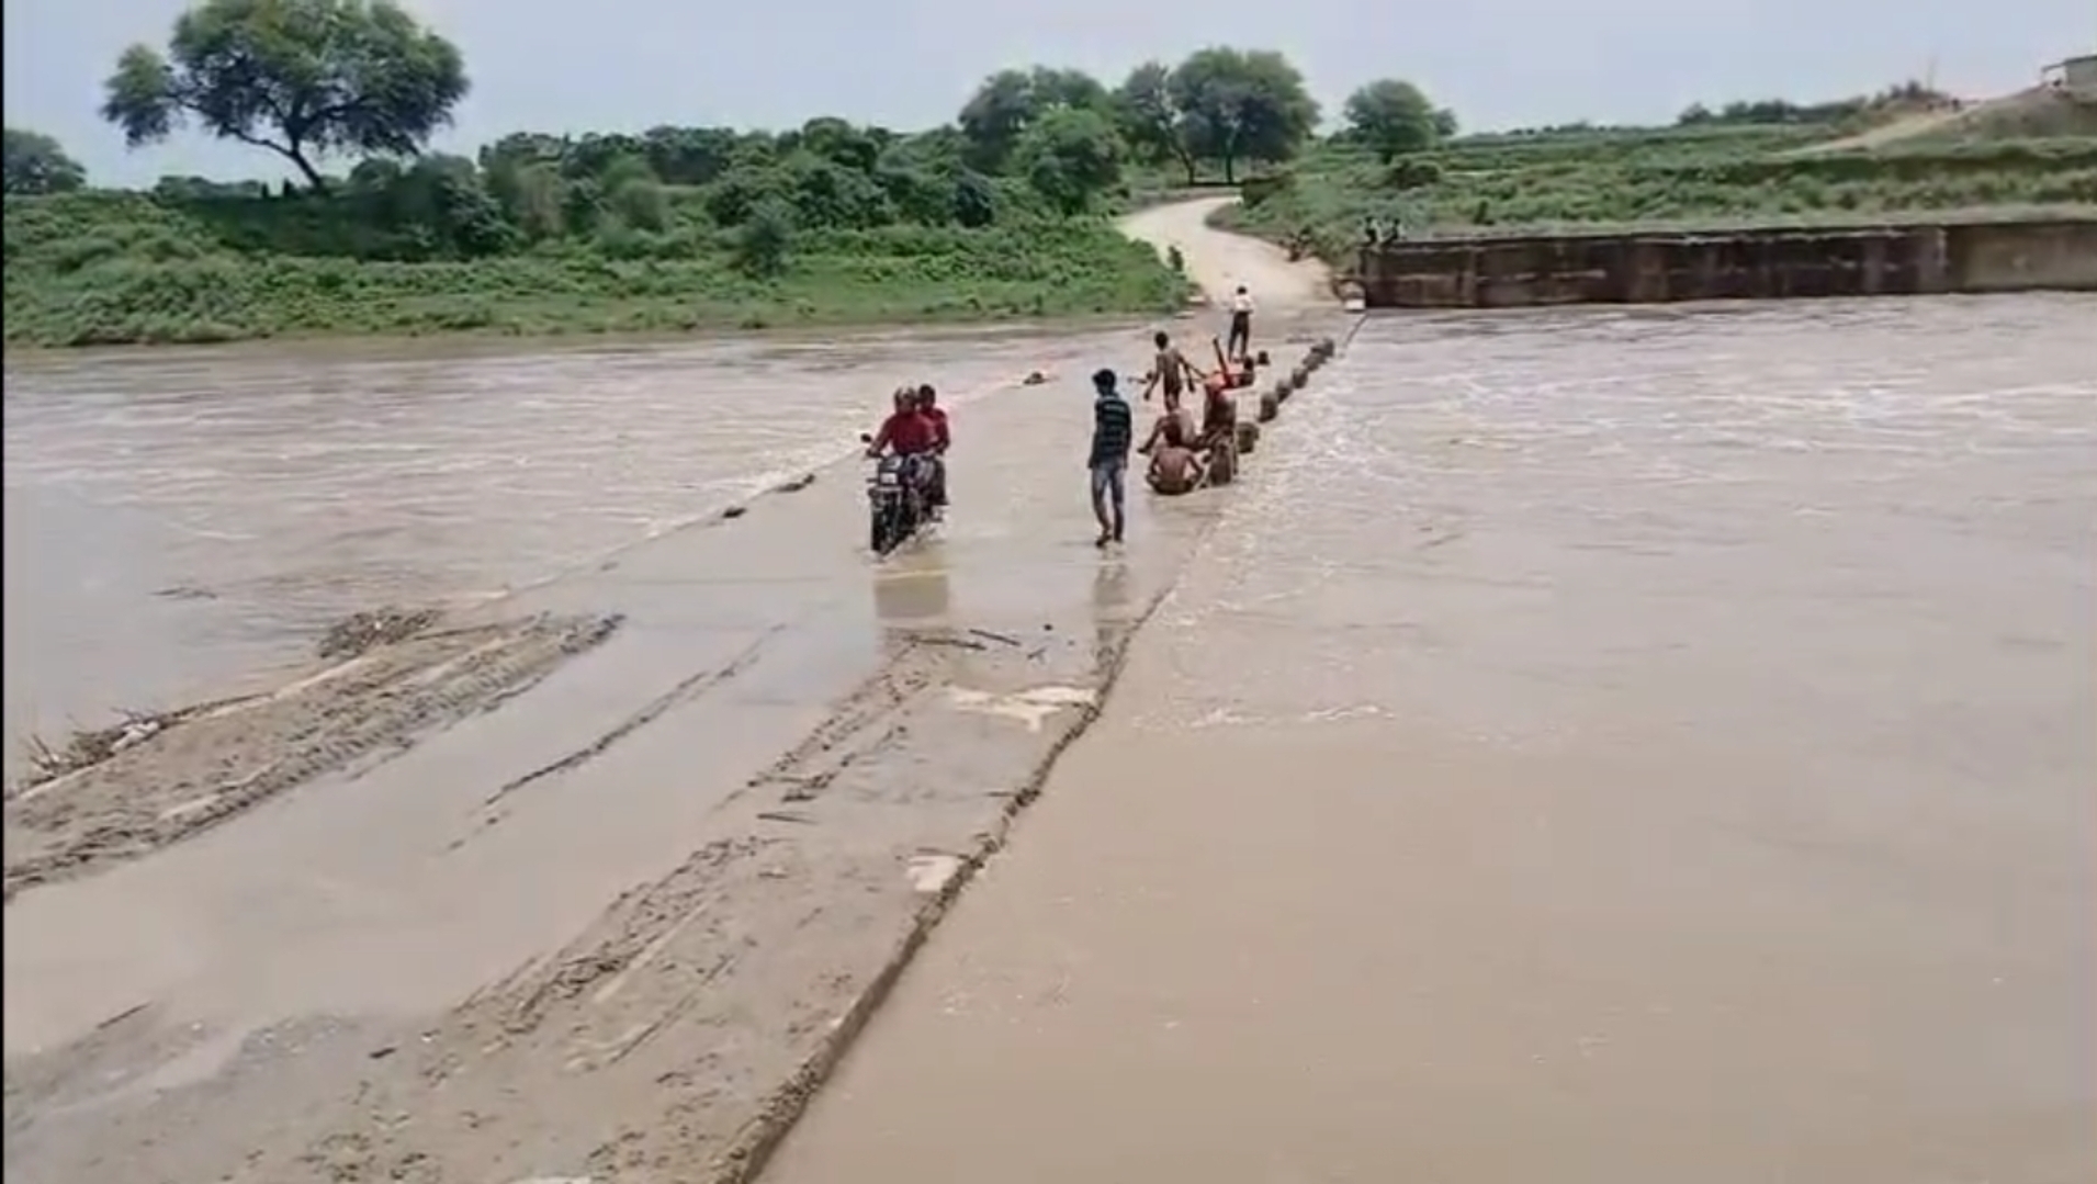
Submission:
[[[1371,321],[768,1180],[2097,1178],[2093,316]]]

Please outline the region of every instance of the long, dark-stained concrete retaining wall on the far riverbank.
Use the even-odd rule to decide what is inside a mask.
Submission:
[[[2097,289],[2097,218],[1363,247],[1371,308]]]

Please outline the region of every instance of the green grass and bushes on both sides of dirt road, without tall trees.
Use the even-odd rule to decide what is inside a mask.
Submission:
[[[1864,107],[1818,124],[1476,134],[1390,161],[1332,136],[1250,180],[1220,218],[1350,266],[1371,222],[1508,235],[2097,216],[2087,115],[2034,94],[1950,122],[1908,113],[1915,134],[1887,122],[1900,113]],[[168,178],[153,193],[10,195],[6,344],[658,333],[1183,304],[1183,277],[1107,214],[1187,195],[1185,172],[1130,163],[1111,191],[1059,205],[1053,184],[979,172],[969,151],[952,128],[898,136],[816,119],[780,134],[520,134],[472,161],[371,159],[327,191]]]

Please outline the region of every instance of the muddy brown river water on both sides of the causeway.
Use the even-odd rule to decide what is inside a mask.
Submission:
[[[2089,298],[1369,321],[1248,480],[1204,495],[1227,509],[1139,641],[1124,740],[1074,757],[1176,752],[1160,792],[1244,803],[1181,815],[1170,857],[1132,847],[1160,819],[1103,815],[1061,857],[1090,889],[1059,897],[1109,899],[1128,937],[1082,939],[1095,983],[1141,966],[1244,1039],[1162,1069],[1116,1035],[1141,1004],[1084,974],[1025,1025],[954,1021],[958,995],[912,1018],[906,991],[839,1081],[868,1109],[820,1104],[782,1178],[841,1178],[826,1155],[923,1178],[927,1148],[1032,1165],[1013,1180],[1111,1176],[1116,1148],[1208,1180],[1334,1157],[1355,1176],[1317,1178],[2074,1178],[2097,1104],[2093,321]],[[1134,363],[1130,342],[10,367],[8,725],[187,694],[377,601],[547,580],[843,455],[900,379],[967,407]],[[1313,821],[1353,824],[1298,865],[1323,886],[1300,914],[1288,868],[1227,876],[1264,893],[1227,924],[1143,886],[1264,859],[1296,838],[1281,790],[1323,784],[1355,796]],[[1147,876],[1120,895],[1118,857]],[[1000,889],[912,977],[986,972],[969,918]],[[1267,939],[1288,956],[1246,953]],[[1044,1106],[1103,1046],[1126,1090]]]

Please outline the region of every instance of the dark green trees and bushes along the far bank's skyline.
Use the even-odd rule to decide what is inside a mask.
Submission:
[[[367,228],[356,254],[470,258],[596,237],[614,251],[677,249],[684,235],[734,235],[753,268],[776,266],[799,231],[981,228],[1015,216],[1078,216],[1122,191],[1132,168],[1187,184],[1239,182],[1313,140],[1319,105],[1279,52],[1210,46],[1149,61],[1118,86],[1036,65],[992,73],[954,122],[893,132],[839,117],[786,132],[661,126],[640,134],[518,132],[476,157],[428,153],[468,94],[466,59],[394,0],[201,0],[166,48],[126,48],[101,115],[132,147],[185,126],[281,157],[300,189],[164,178],[178,201],[327,203]],[[1839,103],[1692,107],[1699,124],[1835,122],[1921,101],[1904,84]],[[1334,138],[1384,163],[1457,132],[1418,86],[1378,80],[1344,103]],[[329,159],[352,159],[329,176]],[[1422,170],[1428,166],[1422,163]],[[6,193],[86,184],[61,145],[6,132]],[[315,235],[338,235],[317,228]]]

